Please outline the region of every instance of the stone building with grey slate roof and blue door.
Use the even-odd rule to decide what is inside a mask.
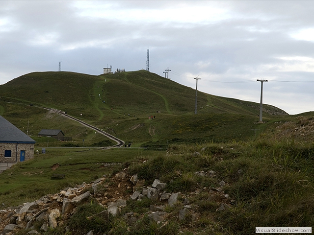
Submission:
[[[34,158],[35,142],[0,116],[0,163],[18,163]]]

